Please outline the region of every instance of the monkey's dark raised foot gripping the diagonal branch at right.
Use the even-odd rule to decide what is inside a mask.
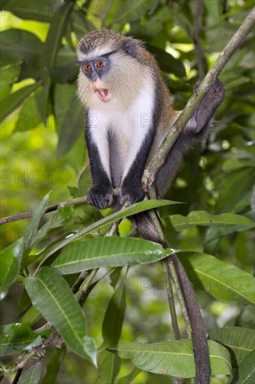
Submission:
[[[196,87],[196,86],[195,86]],[[194,117],[196,119],[196,128],[194,133],[198,135],[204,126],[208,124],[213,113],[224,99],[225,88],[219,79],[212,82],[209,86],[208,93],[203,98],[199,106],[196,108]]]

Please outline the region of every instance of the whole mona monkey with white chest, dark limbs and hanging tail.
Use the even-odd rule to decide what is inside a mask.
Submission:
[[[89,32],[77,46],[77,62],[77,93],[85,106],[93,179],[87,202],[99,209],[116,207],[113,189],[120,186],[117,207],[125,200],[132,205],[144,199],[141,177],[146,163],[180,112],[173,109],[157,61],[141,40],[107,29]],[[216,80],[157,172],[158,197],[169,189],[185,153],[208,138],[208,121],[223,97],[222,83]],[[209,384],[210,360],[201,312],[177,256],[173,261],[192,324],[196,383]]]

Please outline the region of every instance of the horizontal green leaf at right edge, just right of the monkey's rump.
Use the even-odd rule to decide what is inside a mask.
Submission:
[[[234,226],[234,230],[254,228],[254,222],[239,214],[208,214],[206,211],[192,211],[187,216],[173,214],[169,216],[173,228],[191,228],[194,226]],[[166,219],[165,219],[166,220]]]

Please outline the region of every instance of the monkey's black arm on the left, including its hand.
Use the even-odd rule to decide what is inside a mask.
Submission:
[[[111,182],[102,165],[98,147],[92,140],[89,128],[86,128],[85,138],[93,179],[93,186],[88,191],[87,202],[99,209],[105,209],[110,207],[114,201]]]

